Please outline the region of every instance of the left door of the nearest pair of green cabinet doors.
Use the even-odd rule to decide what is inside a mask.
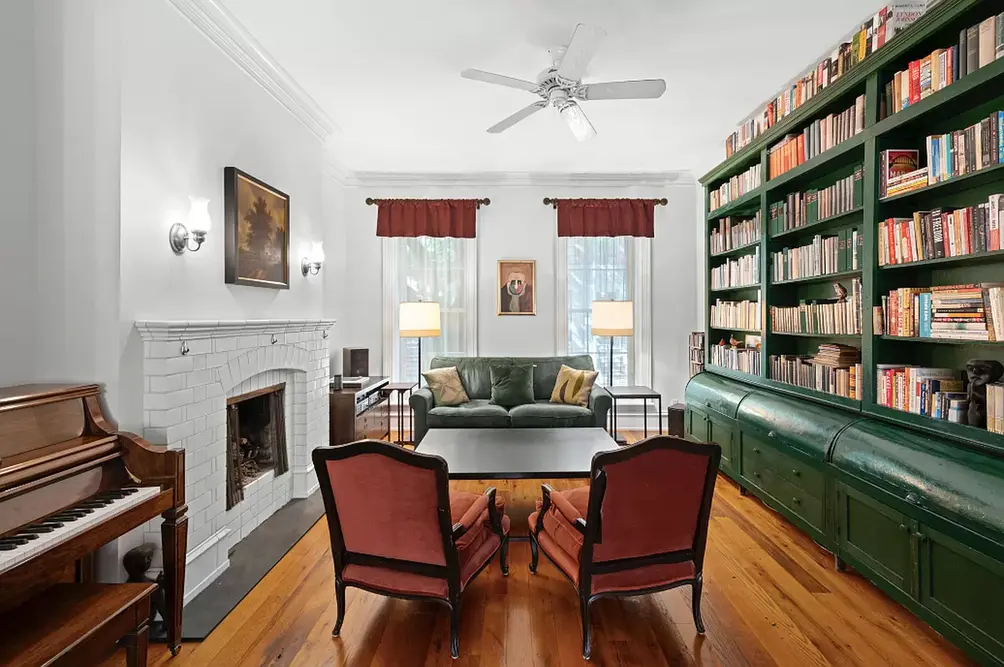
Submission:
[[[867,495],[837,485],[836,536],[852,557],[907,595],[918,596],[917,550],[911,519]]]

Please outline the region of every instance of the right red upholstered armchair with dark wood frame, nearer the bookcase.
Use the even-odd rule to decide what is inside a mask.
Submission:
[[[530,514],[530,572],[538,549],[578,591],[582,657],[589,658],[589,605],[691,585],[701,620],[704,549],[722,450],[655,436],[592,457],[589,486],[555,491]]]

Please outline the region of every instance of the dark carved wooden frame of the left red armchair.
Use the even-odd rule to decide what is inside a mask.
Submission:
[[[341,533],[341,524],[338,520],[338,510],[335,503],[334,493],[331,489],[331,481],[328,475],[326,461],[357,456],[359,454],[379,454],[389,458],[413,465],[419,468],[433,470],[436,473],[436,486],[439,505],[440,530],[443,535],[443,553],[446,565],[434,565],[430,563],[420,563],[416,561],[403,561],[391,559],[370,553],[359,553],[350,551],[345,547],[345,542]],[[338,616],[331,631],[333,637],[337,637],[341,632],[341,624],[345,619],[345,588],[352,586],[369,593],[399,598],[402,600],[435,600],[447,606],[450,610],[450,653],[454,658],[460,656],[460,602],[463,591],[461,582],[460,562],[457,552],[457,540],[468,531],[462,523],[453,523],[450,516],[450,484],[449,470],[447,462],[440,456],[421,454],[419,452],[403,449],[397,445],[380,440],[359,440],[344,445],[334,447],[317,447],[312,453],[314,470],[320,481],[321,497],[324,500],[324,511],[327,516],[327,527],[331,537],[331,555],[334,560],[334,593],[338,606]],[[485,489],[484,497],[488,504],[488,517],[492,532],[497,534],[501,542],[491,553],[485,563],[478,568],[477,572],[471,575],[469,581],[474,581],[488,564],[499,554],[499,566],[503,577],[508,577],[508,552],[509,537],[502,528],[502,516],[495,506],[495,487]],[[367,566],[385,568],[396,572],[421,575],[445,580],[447,583],[448,595],[446,598],[432,595],[404,595],[390,589],[375,586],[365,586],[354,582],[346,583],[342,579],[345,566]]]

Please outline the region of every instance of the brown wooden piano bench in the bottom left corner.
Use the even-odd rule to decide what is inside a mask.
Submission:
[[[147,664],[155,584],[56,584],[0,616],[0,665],[95,665],[120,643],[129,667]]]

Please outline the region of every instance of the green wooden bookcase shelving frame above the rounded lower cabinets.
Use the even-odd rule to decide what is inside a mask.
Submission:
[[[872,306],[882,304],[882,295],[900,287],[936,286],[960,283],[1004,281],[1004,251],[929,259],[912,264],[880,266],[877,262],[878,223],[888,218],[910,217],[915,211],[959,208],[987,201],[991,194],[1004,193],[1004,164],[967,174],[921,190],[894,197],[880,196],[881,154],[890,149],[917,149],[924,162],[926,138],[963,129],[991,113],[1004,110],[1004,58],[981,67],[919,102],[880,121],[880,106],[886,84],[895,72],[908,68],[911,60],[922,58],[937,48],[958,44],[959,32],[985,18],[1004,11],[1004,2],[943,0],[909,30],[898,35],[883,49],[852,68],[836,83],[826,87],[809,102],[783,119],[726,162],[705,175],[708,191],[717,189],[732,176],[752,165],[762,165],[762,184],[717,211],[706,206],[705,236],[726,216],[742,218],[760,213],[763,233],[756,244],[707,256],[709,277],[706,286],[708,321],[707,348],[730,338],[744,340],[751,331],[711,325],[711,305],[717,299],[742,300],[760,296],[762,322],[761,368],[745,374],[716,368],[706,370],[754,385],[769,387],[822,404],[859,410],[872,417],[922,431],[951,437],[970,446],[1004,452],[1004,436],[966,425],[934,420],[878,405],[876,369],[883,364],[908,364],[958,369],[962,373],[969,359],[996,359],[1004,363],[1004,343],[973,343],[930,339],[902,339],[876,335],[872,327]],[[786,135],[797,135],[813,121],[838,113],[864,95],[864,130],[807,162],[769,179],[770,147]],[[1004,141],[1004,140],[1002,140]],[[926,163],[924,163],[926,164]],[[775,231],[771,228],[771,205],[789,193],[821,189],[852,174],[863,166],[860,206],[840,215],[803,227]],[[1004,219],[1004,214],[1002,214]],[[771,255],[785,247],[811,243],[816,234],[839,234],[856,229],[861,234],[858,268],[846,268],[836,275],[812,276],[795,280],[773,280]],[[711,289],[710,271],[730,259],[759,250],[760,277],[756,285],[722,290]],[[796,305],[801,300],[833,295],[833,282],[849,292],[851,282],[861,283],[860,335],[774,334],[770,307]],[[1004,332],[998,335],[1004,338]],[[772,355],[809,355],[822,343],[853,346],[861,351],[861,395],[857,400],[815,392],[769,379],[768,358]]]

